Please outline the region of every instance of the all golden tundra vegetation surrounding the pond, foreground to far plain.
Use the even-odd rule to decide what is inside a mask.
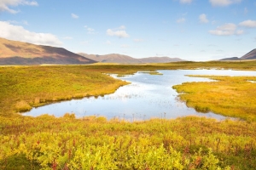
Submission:
[[[126,122],[69,113],[18,114],[58,100],[113,93],[128,83],[102,73],[197,68],[255,71],[256,62],[0,67],[0,169],[254,169],[255,102],[247,92],[255,96],[253,82],[248,82],[255,77],[211,77],[218,82],[174,87],[198,111],[243,120],[186,116]],[[224,93],[219,103],[214,90]]]

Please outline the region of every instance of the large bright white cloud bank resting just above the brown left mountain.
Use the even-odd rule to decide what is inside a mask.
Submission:
[[[14,26],[9,22],[0,21],[0,28],[0,36],[9,40],[49,46],[61,46],[62,44],[53,34],[27,31],[22,26]]]

